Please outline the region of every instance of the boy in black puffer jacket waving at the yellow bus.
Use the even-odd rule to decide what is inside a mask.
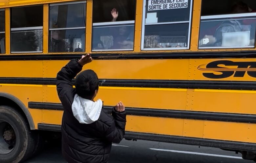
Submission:
[[[71,60],[57,74],[57,92],[64,108],[62,155],[69,163],[107,163],[112,142],[119,143],[125,133],[122,102],[113,108],[112,115],[108,114],[101,100],[94,101],[99,88],[96,73],[85,70],[78,74],[92,60],[90,54]]]

